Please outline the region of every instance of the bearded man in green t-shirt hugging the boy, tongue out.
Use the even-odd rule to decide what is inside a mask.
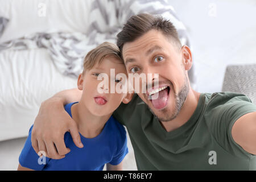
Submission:
[[[193,90],[188,78],[192,54],[181,46],[171,22],[135,15],[117,38],[128,73],[159,74],[158,87],[155,78],[141,82],[147,92],[138,92],[114,112],[127,127],[139,170],[256,169],[256,106],[243,94]],[[155,94],[158,98],[151,100]],[[43,102],[32,130],[36,152],[63,158],[69,152],[63,140],[67,131],[82,147],[76,124],[63,109],[80,97],[72,89]]]

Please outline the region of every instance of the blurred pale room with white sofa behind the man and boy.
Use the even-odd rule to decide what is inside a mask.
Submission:
[[[16,170],[40,103],[75,88],[83,55],[133,14],[162,14],[192,48],[197,92],[240,92],[256,104],[256,0],[0,0],[0,170]],[[137,170],[129,140],[125,170]]]

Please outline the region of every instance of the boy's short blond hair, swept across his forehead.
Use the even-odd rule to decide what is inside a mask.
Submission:
[[[101,64],[102,60],[106,56],[114,56],[122,61],[120,51],[117,45],[109,42],[104,42],[87,53],[84,58],[84,71],[82,73],[84,73],[88,69],[92,69],[96,64]]]

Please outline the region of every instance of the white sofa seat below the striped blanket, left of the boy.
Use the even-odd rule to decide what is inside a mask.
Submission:
[[[57,71],[46,49],[0,52],[0,140],[25,137],[40,103],[77,80]]]

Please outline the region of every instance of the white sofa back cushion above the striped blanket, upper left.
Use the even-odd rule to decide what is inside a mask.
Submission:
[[[9,18],[0,43],[36,32],[86,32],[92,0],[0,0],[0,16]]]

